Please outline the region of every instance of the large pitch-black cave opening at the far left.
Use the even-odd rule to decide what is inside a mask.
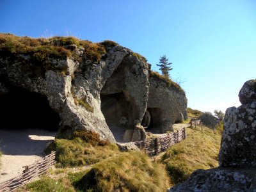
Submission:
[[[8,91],[0,95],[1,128],[58,131],[60,116],[45,95],[16,86]]]

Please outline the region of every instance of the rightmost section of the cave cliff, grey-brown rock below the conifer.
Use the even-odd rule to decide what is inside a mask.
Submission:
[[[172,125],[186,116],[188,100],[185,93],[178,91],[156,76],[149,77],[148,111],[155,132],[173,131]]]

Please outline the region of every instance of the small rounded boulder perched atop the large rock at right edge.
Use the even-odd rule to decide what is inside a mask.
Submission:
[[[246,81],[238,96],[241,104],[247,104],[256,100],[256,79]]]

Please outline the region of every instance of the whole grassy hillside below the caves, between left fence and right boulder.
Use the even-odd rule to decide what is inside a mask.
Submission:
[[[220,127],[221,129],[221,127]],[[119,152],[115,145],[94,136],[56,140],[58,164],[49,177],[28,184],[20,191],[165,191],[196,169],[218,166],[221,130],[187,128],[188,137],[159,157],[142,152]],[[53,147],[53,148],[52,148]],[[156,160],[158,159],[158,160]]]

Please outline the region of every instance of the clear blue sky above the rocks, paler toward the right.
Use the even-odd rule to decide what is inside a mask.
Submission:
[[[0,0],[0,32],[114,40],[145,56],[154,70],[163,54],[188,106],[239,106],[238,92],[256,74],[255,0]]]

